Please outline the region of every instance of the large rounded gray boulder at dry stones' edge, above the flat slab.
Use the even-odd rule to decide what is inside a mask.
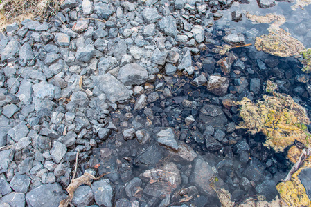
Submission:
[[[120,68],[118,72],[118,79],[125,86],[140,85],[145,83],[148,79],[148,72],[137,63],[131,63]]]

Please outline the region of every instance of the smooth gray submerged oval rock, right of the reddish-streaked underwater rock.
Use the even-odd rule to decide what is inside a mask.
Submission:
[[[215,172],[212,167],[203,159],[197,159],[195,161],[195,168],[193,170],[193,174],[191,178],[195,185],[200,188],[204,193],[209,195],[214,195],[215,191],[211,187],[213,182],[213,177],[215,176]]]

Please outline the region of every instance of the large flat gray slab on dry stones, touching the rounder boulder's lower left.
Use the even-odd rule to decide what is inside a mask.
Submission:
[[[120,81],[116,79],[113,75],[104,74],[97,78],[98,86],[102,90],[107,99],[111,102],[123,101],[130,97],[130,94]]]

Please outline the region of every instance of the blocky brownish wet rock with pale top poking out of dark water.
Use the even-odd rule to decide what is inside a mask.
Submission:
[[[229,81],[226,77],[211,75],[208,77],[207,89],[217,96],[224,96],[227,93]]]

